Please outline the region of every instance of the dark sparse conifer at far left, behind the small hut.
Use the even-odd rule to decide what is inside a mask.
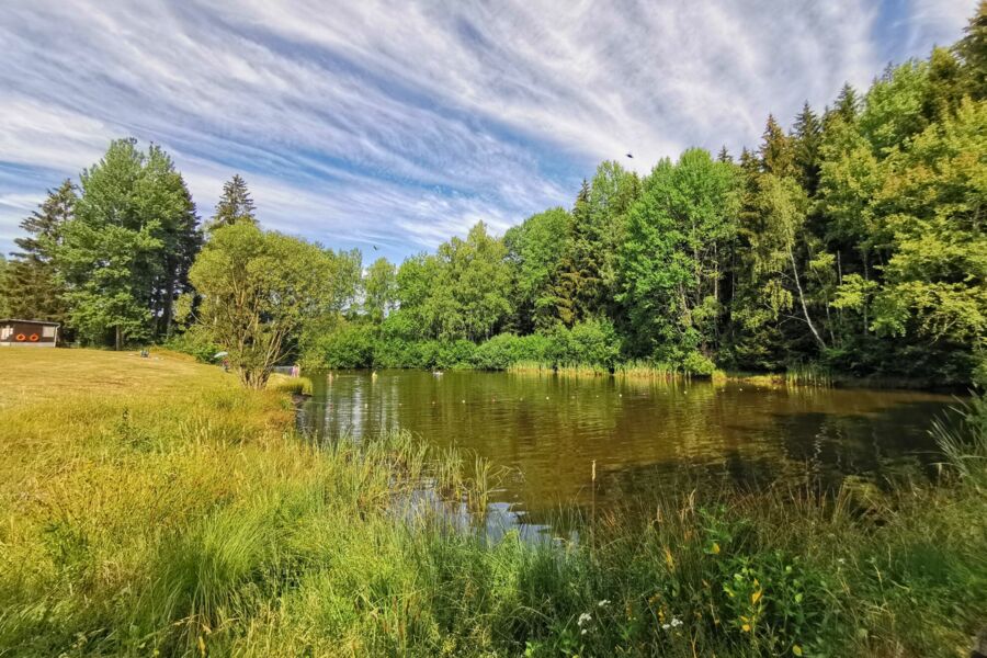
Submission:
[[[76,208],[76,189],[66,180],[30,217],[21,222],[27,234],[16,238],[20,248],[12,252],[4,282],[7,310],[13,317],[60,322],[65,319],[65,292],[58,280],[55,251],[61,241],[63,229]]]

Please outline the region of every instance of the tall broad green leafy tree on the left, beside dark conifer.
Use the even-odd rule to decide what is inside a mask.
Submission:
[[[117,139],[80,175],[76,216],[55,257],[70,324],[91,343],[121,349],[170,331],[175,297],[200,247],[191,194],[171,158]]]

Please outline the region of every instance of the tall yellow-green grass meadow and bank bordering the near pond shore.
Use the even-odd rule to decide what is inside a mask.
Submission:
[[[983,444],[935,488],[683,494],[491,545],[467,455],[316,450],[283,394],[170,354],[0,372],[0,656],[957,656],[987,620]]]

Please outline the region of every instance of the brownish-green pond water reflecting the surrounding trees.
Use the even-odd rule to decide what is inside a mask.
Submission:
[[[383,371],[311,375],[300,423],[317,440],[405,429],[510,470],[494,501],[536,522],[682,483],[876,484],[924,477],[930,420],[953,398],[927,393],[765,387],[612,377]]]

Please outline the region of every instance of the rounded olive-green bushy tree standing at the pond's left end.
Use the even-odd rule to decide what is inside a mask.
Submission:
[[[192,265],[198,324],[240,381],[262,388],[305,325],[332,313],[337,257],[304,240],[240,222],[213,231]]]

